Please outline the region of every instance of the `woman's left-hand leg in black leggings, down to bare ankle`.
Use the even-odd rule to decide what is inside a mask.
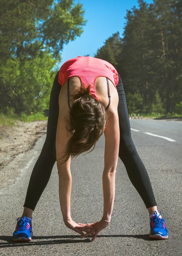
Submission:
[[[46,140],[29,180],[22,217],[27,214],[27,217],[31,218],[30,215],[34,211],[38,200],[49,181],[52,168],[56,161],[55,137],[59,114],[58,97],[60,90],[61,85],[58,83],[57,73],[50,95]]]

